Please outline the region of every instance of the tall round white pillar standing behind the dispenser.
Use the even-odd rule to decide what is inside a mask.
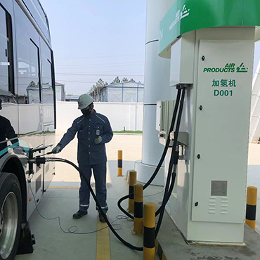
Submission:
[[[136,162],[137,180],[146,183],[160,161],[164,146],[159,143],[156,125],[157,100],[169,98],[170,60],[160,58],[160,21],[174,0],[148,0],[145,44],[145,89],[143,102],[143,157]],[[164,167],[152,184],[164,186]]]

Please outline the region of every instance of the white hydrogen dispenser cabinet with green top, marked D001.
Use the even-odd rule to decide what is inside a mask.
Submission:
[[[159,55],[171,59],[169,87],[188,86],[178,133],[176,182],[166,210],[189,243],[244,242],[257,12],[256,1],[176,0],[160,22]],[[172,103],[157,103],[162,145]],[[170,136],[172,142],[174,134]],[[165,158],[166,175],[170,155],[171,148]]]

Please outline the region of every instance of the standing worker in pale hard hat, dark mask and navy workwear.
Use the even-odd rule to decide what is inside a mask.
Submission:
[[[58,145],[53,148],[53,153],[58,153],[72,141],[77,133],[78,148],[77,160],[79,169],[82,174],[89,180],[91,179],[91,171],[95,177],[96,197],[100,203],[103,212],[108,211],[107,188],[106,188],[106,171],[107,156],[105,152],[105,143],[111,141],[113,132],[108,118],[98,114],[94,110],[93,98],[88,94],[79,96],[78,109],[82,111],[82,116],[74,120],[72,126],[67,129]],[[79,211],[73,214],[73,219],[80,219],[88,214],[90,191],[86,185],[84,178],[81,178],[81,186],[79,188]],[[96,206],[99,213],[100,222],[105,222],[104,217],[100,214],[100,210]]]

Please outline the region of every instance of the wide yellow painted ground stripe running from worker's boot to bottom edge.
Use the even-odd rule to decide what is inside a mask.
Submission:
[[[98,230],[108,226],[107,223],[101,223],[98,218]],[[110,260],[110,238],[109,228],[98,231],[96,235],[96,260]]]

